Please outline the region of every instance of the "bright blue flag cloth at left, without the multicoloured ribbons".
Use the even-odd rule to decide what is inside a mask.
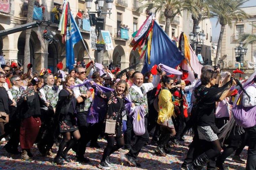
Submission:
[[[68,68],[68,70],[72,70],[75,64],[73,46],[77,42],[83,39],[71,12],[70,12],[70,16],[71,16],[71,31],[69,30],[69,28],[67,28],[67,34],[66,34],[66,67]]]

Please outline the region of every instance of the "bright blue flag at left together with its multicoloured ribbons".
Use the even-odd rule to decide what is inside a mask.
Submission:
[[[63,5],[63,15],[61,16],[59,31],[63,35],[62,42],[66,43],[66,67],[71,70],[75,64],[74,45],[83,39],[75,19],[70,11],[69,2]]]

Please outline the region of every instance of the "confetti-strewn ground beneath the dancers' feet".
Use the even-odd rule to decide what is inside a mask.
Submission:
[[[172,147],[171,153],[167,154],[166,157],[160,157],[155,155],[154,149],[156,146],[146,146],[141,150],[139,154],[138,162],[141,164],[140,168],[130,167],[126,160],[121,160],[119,152],[115,152],[110,156],[110,161],[113,164],[111,169],[123,169],[123,170],[145,170],[145,169],[154,169],[154,170],[179,170],[181,169],[181,164],[186,157],[188,151],[188,145],[191,143],[192,137],[185,136],[184,146],[174,146]],[[81,164],[75,162],[75,153],[70,150],[68,155],[73,160],[71,163],[66,163],[64,165],[56,165],[53,163],[54,157],[42,157],[40,156],[37,147],[34,145],[31,149],[33,154],[33,159],[29,161],[21,160],[20,155],[11,155],[8,154],[3,146],[6,142],[1,143],[0,145],[0,169],[48,169],[48,170],[71,170],[71,169],[98,169],[98,164],[102,157],[103,149],[106,146],[106,140],[99,139],[99,144],[101,149],[94,149],[87,147],[85,156],[90,158],[89,164]],[[57,153],[58,147],[54,146],[53,152]],[[247,159],[247,149],[246,147],[241,154],[243,160]],[[126,151],[128,152],[128,151]],[[243,170],[245,169],[245,164],[238,164],[232,161],[229,157],[225,162],[226,169],[229,170]]]

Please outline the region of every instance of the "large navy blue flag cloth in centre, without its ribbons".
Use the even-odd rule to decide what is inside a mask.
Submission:
[[[142,73],[150,71],[155,64],[163,63],[171,68],[175,68],[184,59],[184,55],[178,47],[171,41],[157,22],[154,22],[153,36],[150,52],[150,64],[148,63],[148,51],[146,52],[145,65]]]

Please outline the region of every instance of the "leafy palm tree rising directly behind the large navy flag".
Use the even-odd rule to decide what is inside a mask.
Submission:
[[[171,26],[171,21],[177,14],[181,14],[183,10],[183,0],[140,0],[145,1],[138,10],[142,12],[143,9],[153,10],[154,13],[160,13],[160,15],[165,16],[165,30],[164,32],[169,36],[169,30]],[[163,11],[163,13],[161,13]]]

